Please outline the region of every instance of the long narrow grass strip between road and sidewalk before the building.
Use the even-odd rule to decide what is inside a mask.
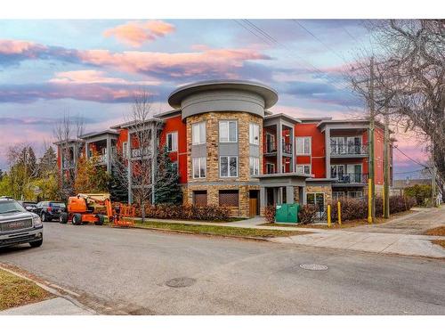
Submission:
[[[255,237],[255,238],[272,238],[287,237],[290,235],[307,234],[308,232],[299,231],[280,231],[280,230],[260,230],[254,228],[214,226],[214,225],[198,225],[198,224],[174,224],[162,222],[146,222],[144,224],[135,223],[136,227],[147,229],[162,229],[175,232],[190,232],[198,234],[211,234],[224,237]]]

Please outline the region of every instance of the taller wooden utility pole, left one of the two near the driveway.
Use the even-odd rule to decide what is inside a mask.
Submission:
[[[368,194],[370,194],[370,215],[368,215],[368,223],[376,221],[376,187],[374,177],[374,129],[376,127],[376,111],[374,106],[374,56],[371,57],[369,66],[369,182],[368,187],[371,187]],[[370,184],[369,184],[370,183]],[[369,200],[369,199],[368,199]],[[370,221],[369,221],[370,220]]]

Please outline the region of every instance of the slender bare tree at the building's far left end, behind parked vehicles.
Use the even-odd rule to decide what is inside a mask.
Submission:
[[[53,136],[60,148],[61,154],[61,196],[67,198],[74,191],[74,180],[77,174],[77,160],[83,149],[80,136],[85,131],[85,119],[82,116],[72,118],[69,112],[55,123]],[[64,167],[69,173],[64,173]]]

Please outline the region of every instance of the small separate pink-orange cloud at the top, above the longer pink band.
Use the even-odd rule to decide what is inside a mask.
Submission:
[[[165,37],[174,31],[174,25],[162,20],[130,21],[115,28],[107,29],[103,33],[105,37],[116,37],[126,45],[141,46],[147,41],[153,41],[158,37]]]

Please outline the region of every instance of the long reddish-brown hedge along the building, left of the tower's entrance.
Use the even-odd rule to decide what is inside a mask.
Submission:
[[[142,216],[141,208],[136,208],[136,216]],[[229,219],[229,213],[227,209],[213,205],[197,207],[192,205],[158,204],[145,206],[145,217],[159,219],[224,221]]]

